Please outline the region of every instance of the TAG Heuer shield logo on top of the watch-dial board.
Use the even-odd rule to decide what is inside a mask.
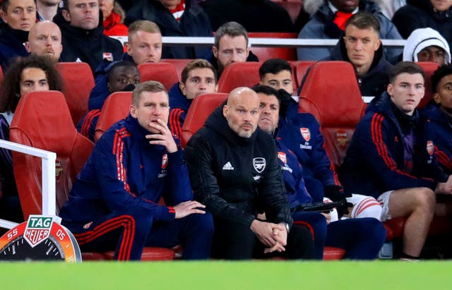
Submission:
[[[32,248],[39,245],[42,241],[49,237],[54,218],[42,215],[30,215],[28,217],[27,227],[23,234]]]

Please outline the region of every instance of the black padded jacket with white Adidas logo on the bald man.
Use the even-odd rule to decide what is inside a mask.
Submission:
[[[292,224],[275,143],[260,129],[237,135],[215,109],[186,146],[195,200],[215,219],[251,225],[258,212],[269,222]]]

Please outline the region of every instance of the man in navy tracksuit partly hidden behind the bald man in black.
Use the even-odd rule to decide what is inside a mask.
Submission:
[[[316,257],[322,258],[323,246],[326,245],[345,249],[344,258],[376,258],[386,239],[386,230],[378,219],[364,217],[329,222],[331,216],[327,214],[294,211],[297,205],[311,203],[312,198],[304,184],[304,167],[302,168],[297,155],[286,145],[291,140],[279,134],[279,129],[285,126],[284,113],[280,115],[280,109],[283,109],[280,107],[280,96],[276,90],[266,85],[256,85],[253,90],[261,99],[259,128],[275,138],[292,218],[295,224],[312,229]]]

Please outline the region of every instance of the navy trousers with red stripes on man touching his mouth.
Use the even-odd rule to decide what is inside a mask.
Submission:
[[[140,260],[145,246],[172,248],[182,244],[182,258],[210,257],[213,220],[210,213],[194,214],[172,222],[154,222],[148,210],[134,208],[114,212],[93,222],[63,222],[82,250],[115,250],[117,260]]]

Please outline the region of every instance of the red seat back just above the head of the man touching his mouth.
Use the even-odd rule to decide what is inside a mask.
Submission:
[[[176,67],[167,62],[146,63],[138,65],[141,74],[141,82],[146,80],[157,80],[162,83],[167,90],[179,82]]]

